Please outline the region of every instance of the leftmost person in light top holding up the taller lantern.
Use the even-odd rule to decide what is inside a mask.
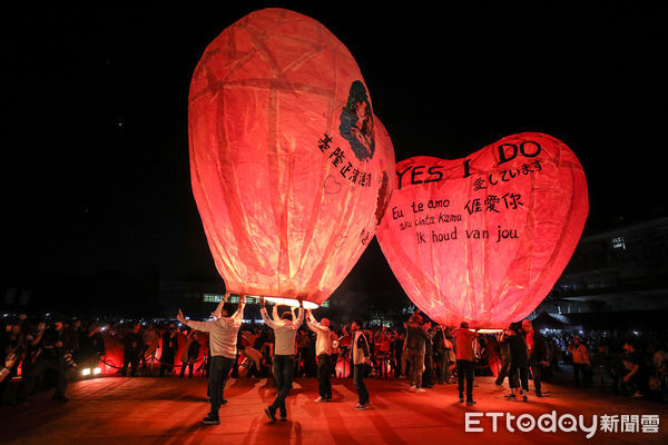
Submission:
[[[226,299],[226,298],[225,298]],[[179,310],[176,319],[195,330],[209,333],[209,348],[212,354],[212,365],[209,370],[209,400],[212,408],[209,414],[203,419],[206,425],[218,425],[218,409],[224,400],[223,392],[229,372],[236,360],[237,353],[237,333],[244,318],[244,307],[246,296],[239,296],[237,312],[227,316],[224,309],[225,299],[220,301],[218,308],[214,312],[213,322],[191,322],[184,317]]]

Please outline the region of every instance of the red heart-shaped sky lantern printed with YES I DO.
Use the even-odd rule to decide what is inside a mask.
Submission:
[[[465,159],[399,162],[376,236],[402,287],[432,319],[500,328],[548,295],[588,211],[578,158],[558,139],[525,132]]]

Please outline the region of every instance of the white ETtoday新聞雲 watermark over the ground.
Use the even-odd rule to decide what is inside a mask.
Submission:
[[[491,428],[490,428],[491,426]],[[659,432],[659,416],[655,414],[603,414],[584,415],[558,414],[556,411],[536,417],[532,414],[511,413],[465,413],[466,433],[497,433],[505,427],[510,433],[529,433],[539,429],[543,433],[584,433],[587,438],[600,433],[647,433]]]

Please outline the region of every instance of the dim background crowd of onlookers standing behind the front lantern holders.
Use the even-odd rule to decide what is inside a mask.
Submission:
[[[20,315],[4,317],[0,323],[2,403],[27,403],[47,387],[56,388],[53,399],[66,402],[68,383],[82,378],[81,369],[102,364],[122,376],[207,377],[209,373],[207,333],[177,322],[82,322]],[[504,333],[474,338],[468,369],[458,366],[459,330],[460,327],[440,326],[419,315],[395,328],[366,326],[362,332],[369,343],[371,364],[365,367],[365,376],[407,379],[411,390],[424,392],[438,384],[464,380],[464,374],[471,372],[477,376],[493,375],[498,385],[508,378],[509,398],[517,396],[513,388],[525,396],[531,379],[534,385],[538,383],[534,390],[540,397],[540,382],[552,382],[558,374],[563,382],[561,364],[572,365],[576,386],[655,400],[668,393],[665,334],[537,329],[536,335],[528,337],[521,324],[513,324]],[[331,336],[330,377],[352,377],[351,325],[332,325]],[[233,377],[273,378],[274,329],[262,323],[243,324],[236,347]],[[294,366],[295,377],[318,377],[322,373],[316,358],[316,333],[306,325],[296,332]],[[463,383],[459,389],[463,397]]]

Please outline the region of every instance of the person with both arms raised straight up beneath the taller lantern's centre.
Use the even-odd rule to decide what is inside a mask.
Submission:
[[[297,329],[304,322],[304,305],[299,300],[299,313],[294,319],[292,312],[278,316],[278,305],[274,305],[273,317],[269,317],[265,307],[264,297],[259,297],[259,315],[267,326],[274,329],[274,378],[278,392],[274,402],[265,408],[265,414],[272,422],[276,422],[276,411],[281,412],[281,421],[287,421],[285,398],[292,388],[295,375],[295,337]]]

